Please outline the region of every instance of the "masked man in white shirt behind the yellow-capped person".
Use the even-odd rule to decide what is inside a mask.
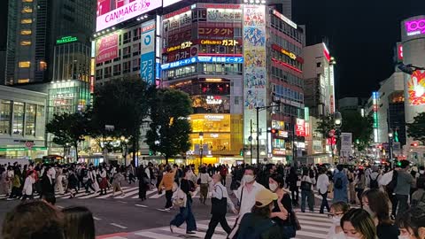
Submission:
[[[243,173],[243,183],[236,191],[236,198],[239,202],[239,213],[236,220],[236,226],[228,235],[228,238],[233,238],[236,235],[239,224],[245,213],[251,212],[252,207],[255,205],[255,197],[262,189],[266,189],[263,185],[255,181],[256,173],[251,166],[245,167]]]

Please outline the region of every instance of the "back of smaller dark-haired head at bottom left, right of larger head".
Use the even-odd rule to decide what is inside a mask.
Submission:
[[[65,214],[66,239],[95,239],[95,222],[89,209],[72,206],[62,212]]]

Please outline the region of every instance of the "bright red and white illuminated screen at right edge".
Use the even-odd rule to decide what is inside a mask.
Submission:
[[[425,104],[425,71],[414,71],[407,82],[409,104]]]

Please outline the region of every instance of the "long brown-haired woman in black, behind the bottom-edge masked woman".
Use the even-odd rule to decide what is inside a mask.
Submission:
[[[398,227],[390,220],[390,199],[379,189],[368,189],[361,197],[363,209],[370,214],[380,239],[398,239]]]

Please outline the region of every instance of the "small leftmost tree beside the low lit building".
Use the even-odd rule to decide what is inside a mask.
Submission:
[[[54,135],[53,143],[61,145],[64,149],[68,145],[75,148],[75,158],[78,160],[78,145],[88,135],[87,126],[89,119],[85,112],[72,114],[55,114],[53,120],[46,125],[48,133]]]

